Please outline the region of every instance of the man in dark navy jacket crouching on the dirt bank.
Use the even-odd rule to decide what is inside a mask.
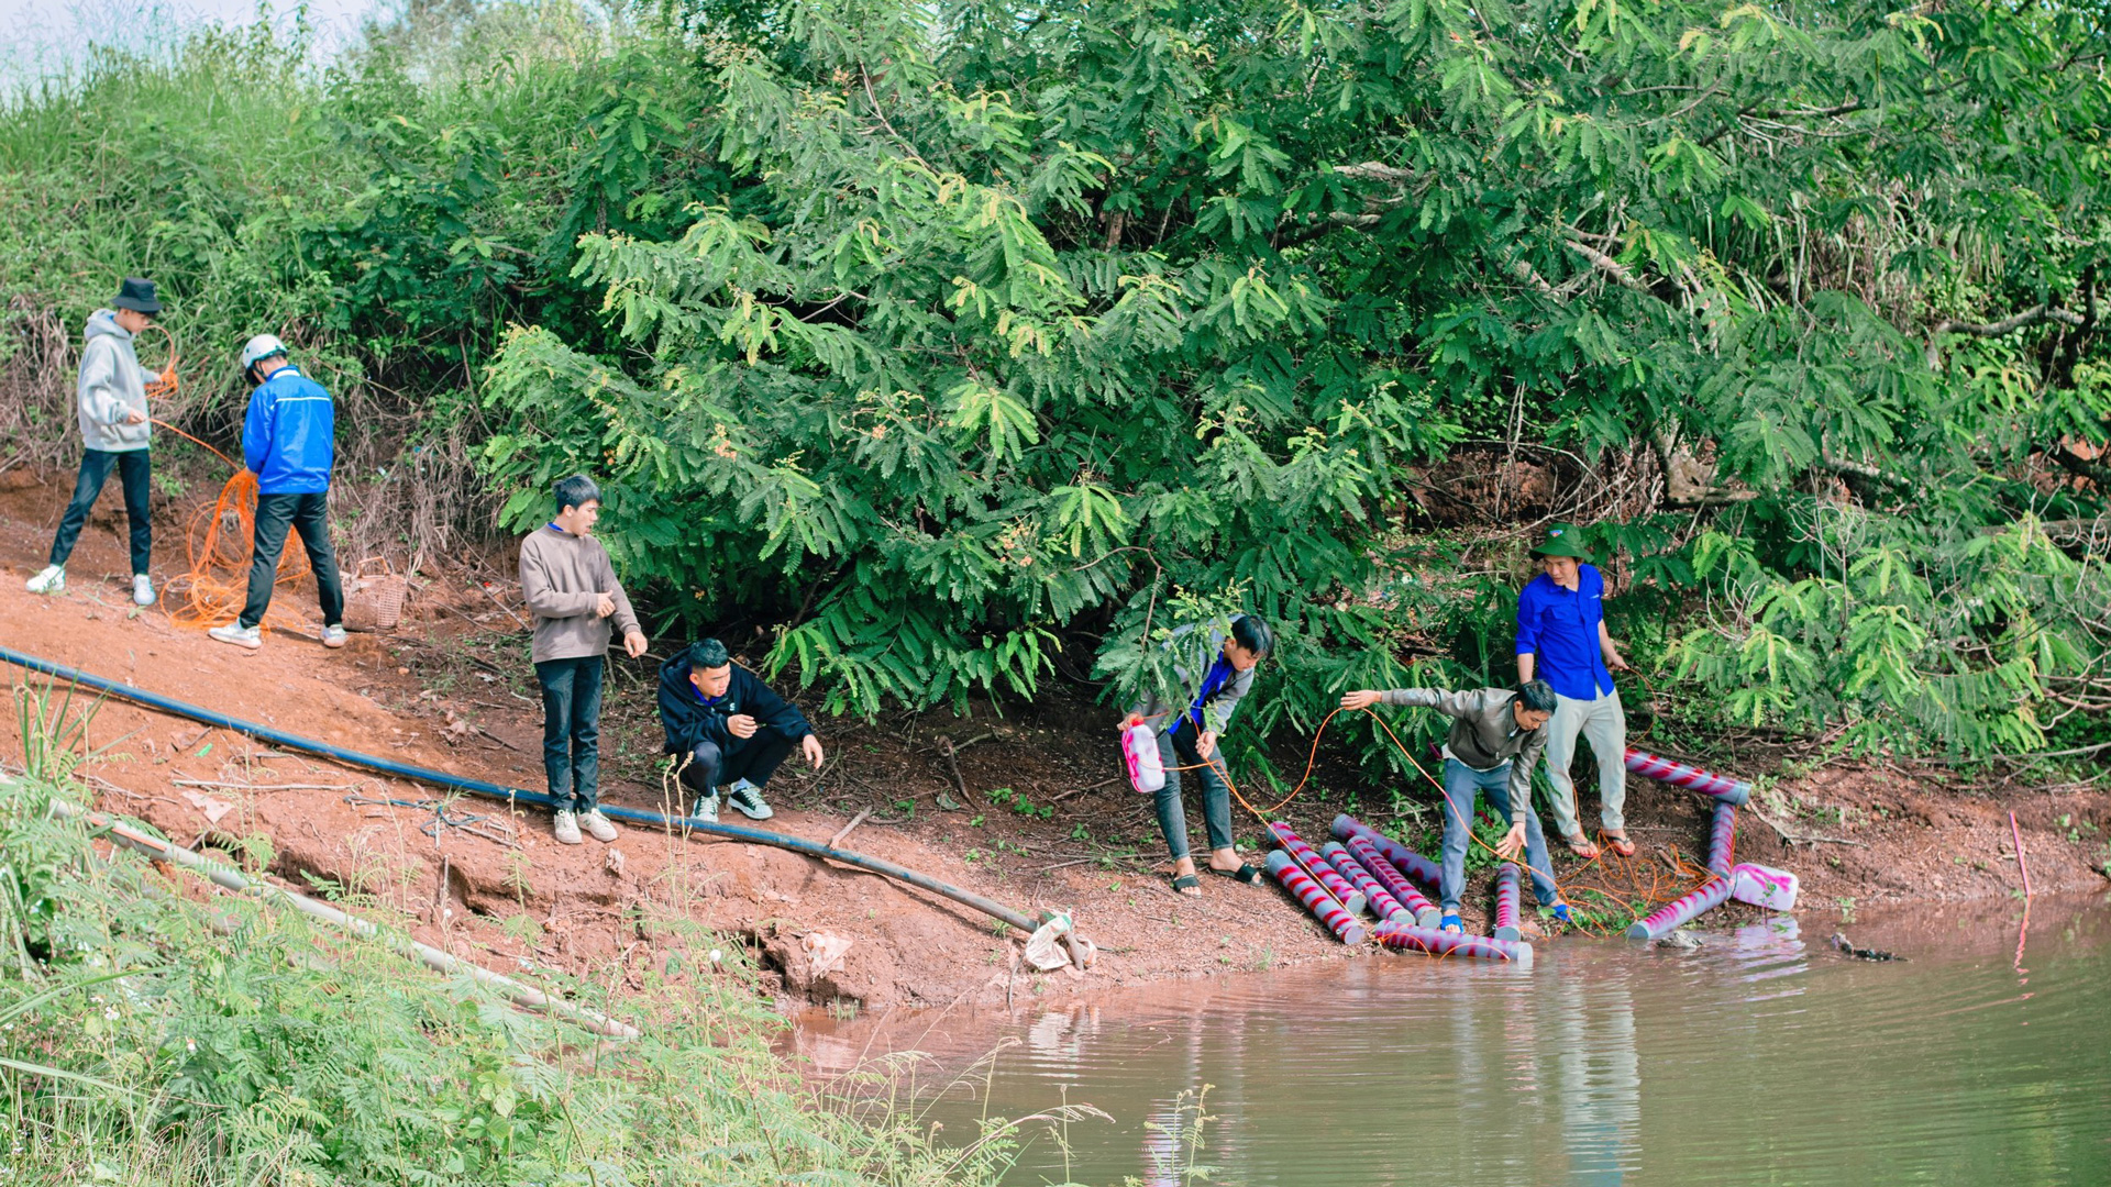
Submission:
[[[716,638],[692,642],[661,665],[661,729],[682,786],[695,796],[690,815],[718,819],[718,790],[749,819],[775,815],[762,788],[792,752],[819,771],[821,739],[798,705],[733,663]]]

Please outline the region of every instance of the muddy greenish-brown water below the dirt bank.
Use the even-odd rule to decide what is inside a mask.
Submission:
[[[1378,955],[1060,1007],[806,1018],[821,1077],[889,1052],[1007,1183],[2111,1183],[2111,904],[1938,906],[1562,940],[1530,972]],[[2018,950],[2018,940],[2020,950]],[[1201,1124],[1197,1141],[1197,1092]],[[1193,1174],[1207,1168],[1207,1174]]]

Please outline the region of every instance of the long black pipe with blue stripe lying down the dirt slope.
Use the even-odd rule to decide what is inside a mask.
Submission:
[[[68,667],[63,663],[53,663],[49,659],[38,659],[13,648],[0,646],[0,661],[13,663],[17,667],[27,667],[30,672],[42,672],[59,680],[74,682],[82,689],[95,689],[97,693],[108,693],[112,697],[122,697],[135,705],[146,705],[150,710],[160,710],[165,714],[175,714],[190,718],[201,724],[220,727],[234,731],[258,741],[268,741],[285,750],[300,750],[302,754],[315,754],[319,758],[329,758],[336,762],[350,762],[355,767],[365,767],[369,771],[380,771],[384,775],[397,775],[403,779],[416,779],[420,784],[433,784],[437,788],[456,788],[473,796],[486,796],[494,800],[534,805],[545,809],[555,809],[555,803],[543,792],[530,792],[526,788],[502,788],[498,784],[486,784],[481,779],[462,779],[458,775],[448,775],[445,771],[433,771],[431,767],[414,767],[410,762],[395,762],[374,754],[361,754],[357,750],[344,750],[342,746],[329,746],[327,741],[317,741],[312,737],[300,737],[298,733],[285,733],[268,724],[258,724],[251,720],[232,718],[222,712],[213,712],[201,705],[177,701],[175,697],[163,697],[160,693],[148,693],[146,689],[133,689],[131,684],[120,684],[116,680],[106,680],[101,676],[91,676],[78,667]],[[844,866],[857,866],[859,870],[870,870],[874,874],[889,877],[897,883],[906,883],[918,889],[927,889],[935,896],[950,898],[961,906],[971,906],[990,919],[999,919],[1018,927],[1026,936],[1032,936],[1037,923],[1009,906],[982,898],[980,893],[965,891],[954,885],[946,885],[937,879],[918,874],[906,866],[885,862],[880,858],[868,858],[863,853],[853,853],[849,849],[834,849],[821,845],[819,841],[806,841],[802,836],[787,836],[783,832],[762,832],[760,828],[743,828],[739,824],[718,824],[709,819],[697,819],[690,815],[661,815],[657,811],[642,811],[629,807],[602,805],[602,813],[614,819],[627,819],[631,824],[650,824],[654,828],[676,828],[682,832],[701,832],[705,836],[724,836],[728,841],[745,841],[749,845],[773,845],[777,849],[790,849],[792,853],[804,853],[809,858],[819,858],[823,862],[842,862]]]

